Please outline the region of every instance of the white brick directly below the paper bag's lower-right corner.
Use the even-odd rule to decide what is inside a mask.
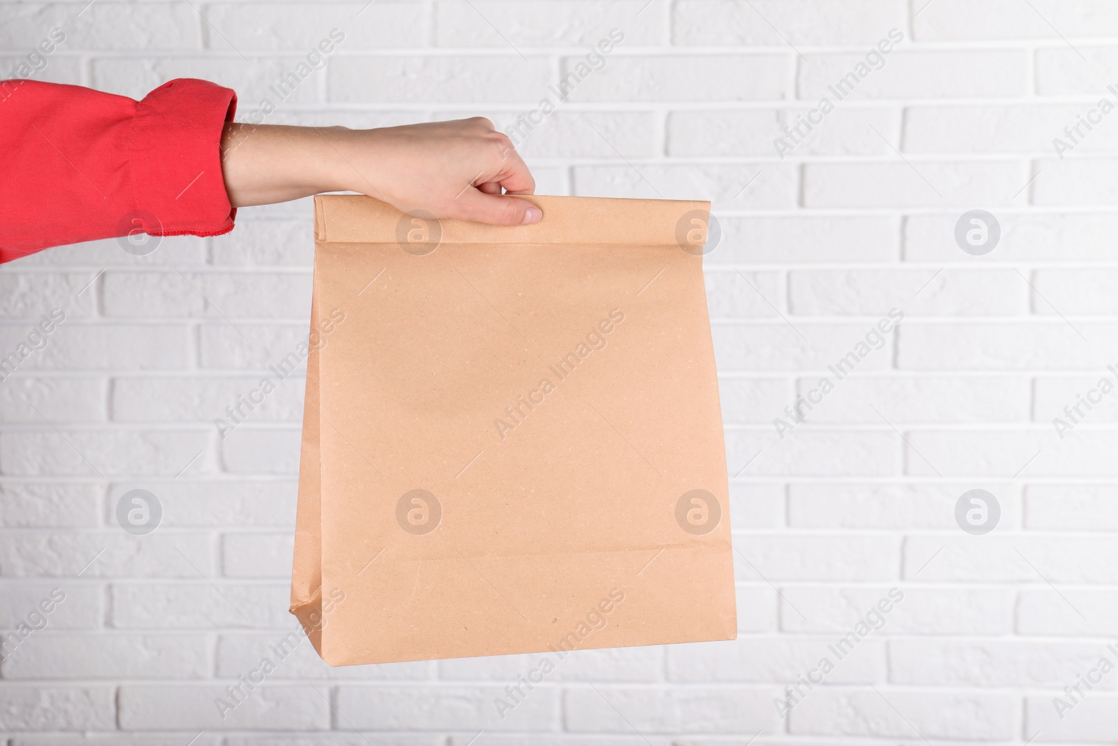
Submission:
[[[835,662],[828,650],[834,640],[788,638],[741,638],[726,642],[670,645],[667,680],[683,683],[795,681],[819,664]],[[827,683],[872,683],[885,674],[885,645],[865,640],[850,655],[835,662]]]

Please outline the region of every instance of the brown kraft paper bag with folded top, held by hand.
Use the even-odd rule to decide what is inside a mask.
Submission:
[[[292,613],[332,665],[730,640],[709,202],[315,199]]]

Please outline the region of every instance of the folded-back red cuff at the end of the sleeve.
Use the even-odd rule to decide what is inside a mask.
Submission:
[[[191,78],[165,83],[136,104],[129,133],[132,201],[152,236],[233,230],[221,176],[221,131],[237,94]],[[148,225],[154,216],[157,224]]]

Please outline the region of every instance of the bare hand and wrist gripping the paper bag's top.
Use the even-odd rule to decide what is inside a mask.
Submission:
[[[351,190],[440,218],[527,225],[542,217],[513,196],[536,189],[524,161],[480,116],[377,130],[230,123],[221,169],[234,207]]]

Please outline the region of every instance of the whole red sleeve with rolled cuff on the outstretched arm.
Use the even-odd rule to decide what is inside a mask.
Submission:
[[[221,131],[236,94],[180,78],[140,102],[0,81],[0,262],[48,246],[233,229]]]

